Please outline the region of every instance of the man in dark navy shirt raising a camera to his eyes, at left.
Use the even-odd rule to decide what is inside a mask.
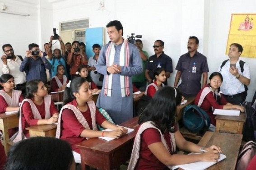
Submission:
[[[40,79],[43,83],[47,83],[46,69],[51,70],[51,63],[43,56],[43,52],[37,44],[29,44],[28,49],[19,70],[26,72],[27,82],[29,80]]]

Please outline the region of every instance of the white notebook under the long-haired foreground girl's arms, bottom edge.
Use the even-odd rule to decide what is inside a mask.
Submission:
[[[190,153],[190,154],[200,154],[200,153]],[[225,156],[223,154],[219,154],[218,162],[225,158],[227,158],[227,156]],[[172,170],[175,170],[177,168],[182,168],[183,170],[205,170],[205,169],[209,168],[211,165],[214,165],[218,162],[199,161],[199,162],[194,162],[194,163],[190,163],[190,164],[175,165],[172,167]]]

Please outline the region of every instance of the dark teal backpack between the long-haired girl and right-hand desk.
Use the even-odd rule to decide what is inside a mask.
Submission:
[[[210,118],[199,106],[188,105],[183,111],[183,124],[192,133],[198,133],[209,128]]]

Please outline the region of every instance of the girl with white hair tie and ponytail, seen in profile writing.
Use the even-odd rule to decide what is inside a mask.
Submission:
[[[86,78],[74,78],[65,89],[63,101],[65,106],[61,109],[56,138],[70,143],[76,163],[81,163],[77,143],[101,136],[120,138],[127,133],[127,129],[111,124],[96,109],[92,90]],[[114,130],[98,131],[96,123],[103,128]]]

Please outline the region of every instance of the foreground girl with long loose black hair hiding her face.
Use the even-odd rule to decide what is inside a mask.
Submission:
[[[172,165],[197,161],[217,161],[221,149],[215,145],[201,147],[186,141],[175,123],[175,111],[182,101],[182,93],[166,86],[156,92],[141,113],[128,170],[169,170]],[[208,152],[198,155],[177,155],[176,146],[188,152]]]

